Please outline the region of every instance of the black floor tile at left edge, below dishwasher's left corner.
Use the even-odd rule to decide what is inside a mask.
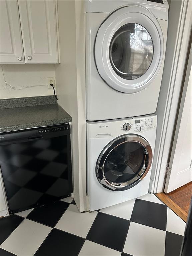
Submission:
[[[17,215],[10,215],[0,219],[0,245],[23,220],[24,218]]]

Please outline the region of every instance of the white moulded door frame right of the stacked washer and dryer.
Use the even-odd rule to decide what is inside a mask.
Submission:
[[[177,115],[190,35],[190,1],[170,1],[165,64],[159,101],[155,112],[158,116],[158,125],[149,187],[150,193],[160,193],[164,190],[167,162]]]

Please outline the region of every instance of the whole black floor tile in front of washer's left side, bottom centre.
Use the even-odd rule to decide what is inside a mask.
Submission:
[[[86,239],[122,251],[129,224],[129,220],[99,212]]]

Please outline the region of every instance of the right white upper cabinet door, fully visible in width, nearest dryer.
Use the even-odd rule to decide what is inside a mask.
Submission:
[[[58,63],[55,1],[18,1],[25,63]]]

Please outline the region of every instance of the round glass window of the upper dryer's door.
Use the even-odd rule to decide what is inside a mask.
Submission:
[[[120,27],[111,40],[109,56],[120,77],[133,80],[142,76],[153,59],[153,41],[149,32],[137,23]]]

